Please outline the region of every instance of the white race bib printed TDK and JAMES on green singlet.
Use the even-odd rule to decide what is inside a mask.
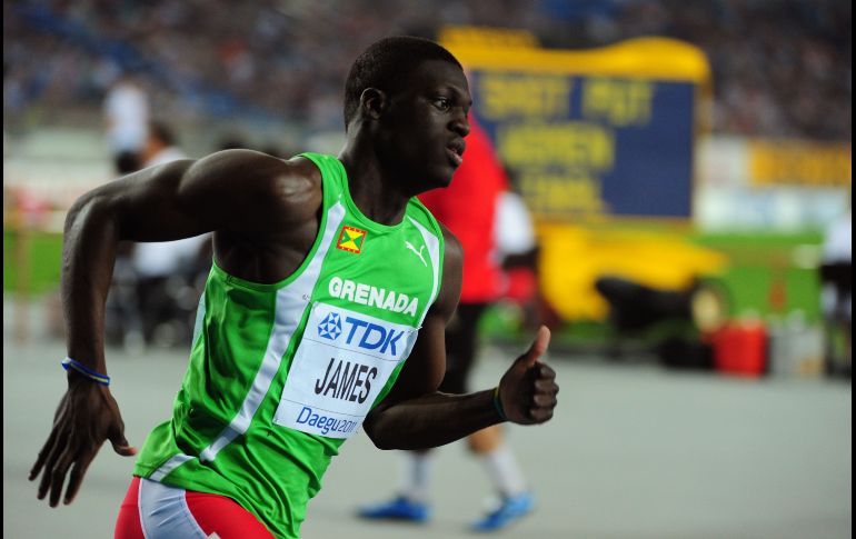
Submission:
[[[312,305],[273,422],[350,438],[418,332],[326,303]]]

